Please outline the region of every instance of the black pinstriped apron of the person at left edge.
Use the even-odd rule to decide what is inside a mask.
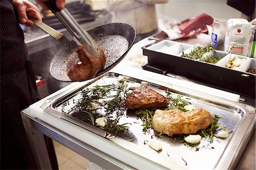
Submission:
[[[24,34],[9,0],[0,1],[1,169],[35,169],[20,111],[39,99]],[[52,140],[46,138],[53,169],[57,169]]]

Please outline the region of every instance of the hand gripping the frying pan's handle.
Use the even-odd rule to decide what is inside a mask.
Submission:
[[[32,20],[28,19],[28,16],[42,20],[39,9],[33,3],[27,0],[13,0],[13,7],[19,18],[19,23],[26,24],[28,27],[35,27]]]

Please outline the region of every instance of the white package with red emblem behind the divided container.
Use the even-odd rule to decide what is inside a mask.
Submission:
[[[231,21],[232,22],[229,22]],[[228,30],[225,38],[225,51],[231,49],[231,53],[247,55],[250,40],[250,23],[246,19],[229,19]]]

